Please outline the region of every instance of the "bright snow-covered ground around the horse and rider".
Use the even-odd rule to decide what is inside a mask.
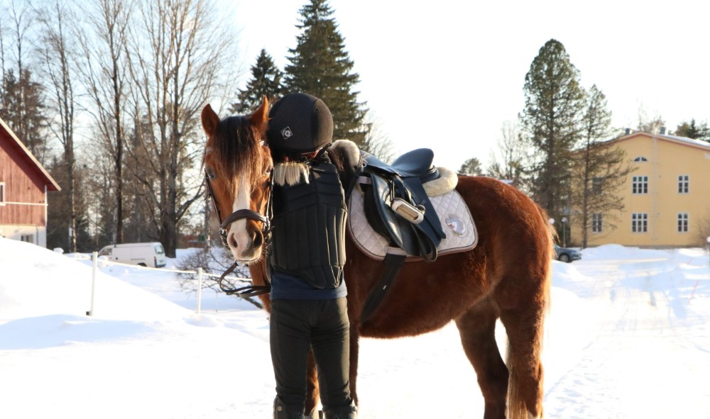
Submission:
[[[545,416],[710,418],[707,253],[582,255],[554,262]],[[198,315],[174,274],[100,270],[89,317],[89,261],[0,238],[0,418],[271,417],[266,313],[205,291]],[[483,414],[453,325],[361,340],[358,389],[363,419]]]

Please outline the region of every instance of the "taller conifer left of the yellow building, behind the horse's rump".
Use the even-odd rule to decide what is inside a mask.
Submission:
[[[534,158],[525,168],[532,197],[552,218],[569,211],[570,154],[580,138],[584,89],[579,72],[559,41],[540,48],[525,75],[523,140]]]

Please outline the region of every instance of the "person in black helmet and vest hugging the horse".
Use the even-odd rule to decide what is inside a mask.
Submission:
[[[356,419],[343,280],[347,210],[337,169],[327,153],[333,118],[322,100],[302,93],[284,96],[268,116],[266,137],[275,164],[267,259],[276,381],[273,417],[304,417],[312,350],[325,418]]]

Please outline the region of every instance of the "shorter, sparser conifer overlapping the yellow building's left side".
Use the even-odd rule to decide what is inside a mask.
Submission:
[[[611,111],[606,96],[596,85],[586,94],[582,125],[583,143],[573,154],[570,203],[577,210],[571,222],[581,228],[581,246],[586,247],[592,218],[598,233],[616,228],[614,223],[624,208],[623,201],[618,194],[608,192],[616,191],[626,182],[631,167],[626,153],[609,141]]]

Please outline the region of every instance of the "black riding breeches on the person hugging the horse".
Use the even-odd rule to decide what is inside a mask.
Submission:
[[[276,395],[288,409],[304,408],[310,348],[323,408],[349,406],[350,323],[346,298],[278,298],[271,301],[269,323]]]

